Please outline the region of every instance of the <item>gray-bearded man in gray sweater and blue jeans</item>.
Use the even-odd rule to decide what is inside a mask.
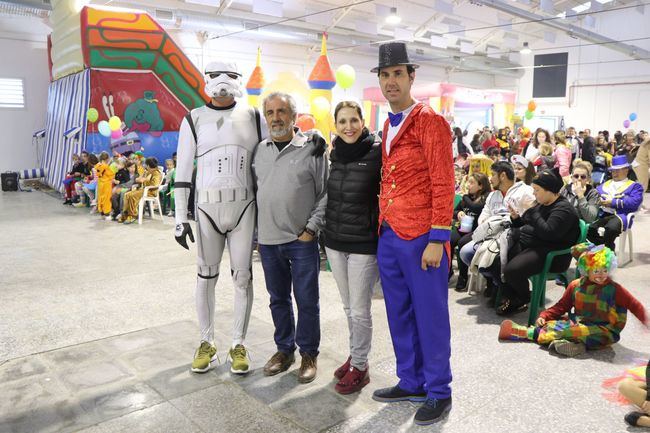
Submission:
[[[295,361],[297,345],[302,356],[298,380],[309,383],[316,377],[320,344],[318,232],[324,225],[327,204],[326,145],[320,135],[305,135],[294,127],[297,111],[290,95],[270,94],[263,112],[270,137],[257,147],[253,174],[259,253],[278,349],[264,366],[264,374],[273,376],[287,370]]]

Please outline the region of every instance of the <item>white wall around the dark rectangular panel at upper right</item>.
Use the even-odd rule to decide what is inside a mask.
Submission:
[[[635,9],[597,14],[596,28],[589,30],[616,40],[647,38],[649,14],[646,12],[644,16]],[[613,132],[624,130],[623,121],[630,113],[636,112],[638,120],[631,127],[637,131],[650,129],[650,61],[614,62],[631,60],[631,57],[607,48],[607,45],[561,48],[579,45],[581,42],[589,43],[562,35],[553,45],[539,42],[531,44],[533,49],[558,47],[536,51],[534,54],[569,53],[567,96],[536,98],[538,108],[535,114],[564,116],[566,127],[575,126],[579,130],[590,128],[592,131],[608,129]],[[650,40],[628,43],[650,49]],[[533,55],[522,56],[522,65],[532,64]],[[632,82],[644,84],[629,84]],[[525,112],[526,105],[532,98],[532,88],[533,72],[532,69],[527,69],[518,89],[520,114]]]

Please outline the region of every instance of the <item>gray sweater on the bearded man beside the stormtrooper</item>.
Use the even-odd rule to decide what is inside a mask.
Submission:
[[[323,228],[328,165],[326,155],[312,155],[315,140],[297,131],[282,152],[270,138],[257,146],[253,176],[260,244],[286,244],[298,239],[305,227],[315,232]]]

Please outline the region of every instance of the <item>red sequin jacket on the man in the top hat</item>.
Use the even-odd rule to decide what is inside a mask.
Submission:
[[[397,236],[411,240],[429,233],[446,242],[454,203],[452,136],[447,121],[418,103],[386,154],[388,120],[382,140],[379,224],[386,220]]]

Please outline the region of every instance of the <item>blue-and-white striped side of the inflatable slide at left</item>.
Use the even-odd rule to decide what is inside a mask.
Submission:
[[[72,154],[79,153],[86,147],[86,112],[89,101],[90,69],[50,84],[41,161],[47,172],[46,183],[56,190],[61,190],[63,178],[70,170]],[[63,133],[75,126],[83,128],[79,139],[65,138]]]

